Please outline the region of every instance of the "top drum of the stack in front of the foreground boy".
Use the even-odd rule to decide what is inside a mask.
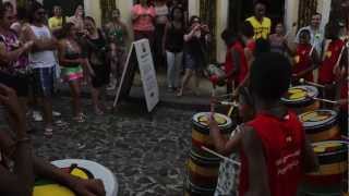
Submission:
[[[201,112],[196,113],[192,119],[192,150],[195,154],[206,157],[206,158],[216,158],[216,156],[210,155],[204,150],[202,150],[202,146],[205,146],[209,149],[215,150],[215,146],[212,137],[209,136],[209,127],[208,127],[208,118],[209,112]],[[232,131],[232,122],[231,119],[227,115],[215,113],[215,120],[218,123],[220,132],[229,138],[230,133]]]

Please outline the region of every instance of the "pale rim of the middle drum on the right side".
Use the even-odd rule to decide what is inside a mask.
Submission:
[[[305,123],[310,123],[310,122],[304,122],[302,121],[302,117],[309,113],[313,113],[313,112],[329,112],[332,114],[332,117],[329,119],[326,119],[324,121],[318,121],[318,122],[313,122],[316,123],[314,125],[306,125]],[[320,110],[314,110],[314,111],[308,111],[308,112],[303,112],[301,114],[298,115],[298,119],[301,121],[303,127],[305,131],[312,131],[312,130],[321,130],[330,125],[336,125],[336,123],[338,122],[338,112],[336,112],[335,110],[327,110],[327,109],[320,109]]]

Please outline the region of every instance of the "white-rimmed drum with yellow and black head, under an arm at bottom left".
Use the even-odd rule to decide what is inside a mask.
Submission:
[[[81,179],[100,179],[106,188],[106,196],[118,195],[118,182],[110,170],[96,162],[80,159],[65,159],[53,161],[52,164],[67,173]],[[75,196],[69,188],[55,182],[37,179],[33,196]]]

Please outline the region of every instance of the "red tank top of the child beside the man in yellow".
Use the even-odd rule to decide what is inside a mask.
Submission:
[[[226,73],[231,72],[231,70],[233,70],[233,66],[234,66],[231,52],[230,52],[231,49],[234,49],[236,51],[238,51],[241,62],[240,62],[240,72],[238,73],[238,76],[236,78],[230,77],[228,79],[234,81],[240,84],[244,79],[244,77],[248,75],[248,61],[244,56],[242,44],[240,41],[234,41],[228,47],[228,51],[226,56],[226,64],[225,64]]]

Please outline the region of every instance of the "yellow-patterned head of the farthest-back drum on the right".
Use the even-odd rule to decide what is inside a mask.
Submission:
[[[313,86],[294,86],[288,89],[281,98],[286,103],[300,103],[313,100],[318,96],[318,90]]]

